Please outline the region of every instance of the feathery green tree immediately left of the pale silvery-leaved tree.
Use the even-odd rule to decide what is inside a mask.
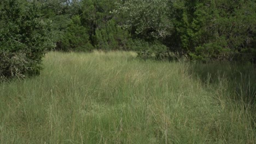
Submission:
[[[113,0],[82,1],[81,22],[88,29],[90,41],[96,49],[128,50],[127,41],[130,36],[117,25]]]

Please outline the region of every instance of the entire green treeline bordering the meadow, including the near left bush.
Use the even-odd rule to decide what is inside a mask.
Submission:
[[[256,62],[252,0],[2,0],[0,22],[4,77],[37,74],[47,50]]]

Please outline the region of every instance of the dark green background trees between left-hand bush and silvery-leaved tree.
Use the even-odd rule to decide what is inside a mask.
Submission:
[[[39,1],[53,20],[55,50],[128,50],[130,34],[117,25],[115,1]]]

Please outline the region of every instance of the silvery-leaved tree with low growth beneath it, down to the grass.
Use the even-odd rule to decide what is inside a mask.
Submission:
[[[167,49],[165,43],[174,28],[170,19],[170,4],[168,0],[127,0],[117,3],[115,13],[121,17],[118,24],[131,33],[132,49],[138,52],[138,56],[171,58],[171,49]]]

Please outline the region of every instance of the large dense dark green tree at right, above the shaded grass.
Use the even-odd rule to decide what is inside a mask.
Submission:
[[[176,1],[172,17],[176,41],[190,58],[248,60],[255,58],[254,1]]]

